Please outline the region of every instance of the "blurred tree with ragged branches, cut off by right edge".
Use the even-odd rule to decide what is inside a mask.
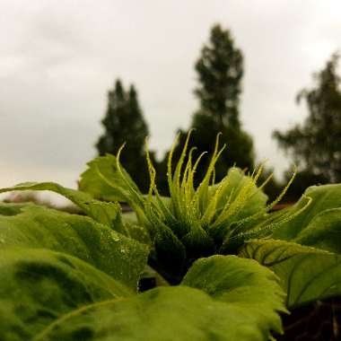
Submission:
[[[314,74],[315,87],[298,94],[297,101],[304,100],[309,110],[303,124],[286,132],[274,132],[279,146],[293,156],[302,170],[299,176],[305,186],[341,182],[341,89],[337,61],[334,54],[325,68]]]

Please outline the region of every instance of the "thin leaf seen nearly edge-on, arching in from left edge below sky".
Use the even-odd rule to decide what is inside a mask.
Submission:
[[[109,225],[115,231],[125,235],[128,234],[121,222],[121,208],[118,203],[101,202],[93,199],[93,197],[87,193],[71,188],[65,188],[55,182],[24,182],[13,186],[12,188],[2,188],[0,189],[0,193],[14,190],[49,190],[55,192],[72,201],[83,210],[84,214],[91,216],[96,222]]]

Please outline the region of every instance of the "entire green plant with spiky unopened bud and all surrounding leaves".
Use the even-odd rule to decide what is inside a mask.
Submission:
[[[267,341],[283,332],[287,309],[341,294],[341,185],[308,188],[296,205],[268,213],[293,178],[269,204],[261,166],[216,182],[218,136],[196,188],[202,155],[188,151],[189,138],[175,165],[176,143],[170,151],[170,197],[159,194],[149,153],[144,195],[121,149],[89,163],[81,190],[53,182],[0,190],[52,190],[88,215],[0,205],[2,340]],[[134,213],[122,217],[117,200]],[[159,286],[139,293],[151,275]]]

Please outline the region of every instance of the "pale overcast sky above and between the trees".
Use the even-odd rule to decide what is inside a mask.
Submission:
[[[152,148],[169,148],[197,109],[193,65],[215,22],[244,54],[243,127],[281,172],[272,131],[307,114],[294,98],[341,47],[340,13],[339,0],[1,0],[0,187],[75,187],[118,77],[136,85]]]

